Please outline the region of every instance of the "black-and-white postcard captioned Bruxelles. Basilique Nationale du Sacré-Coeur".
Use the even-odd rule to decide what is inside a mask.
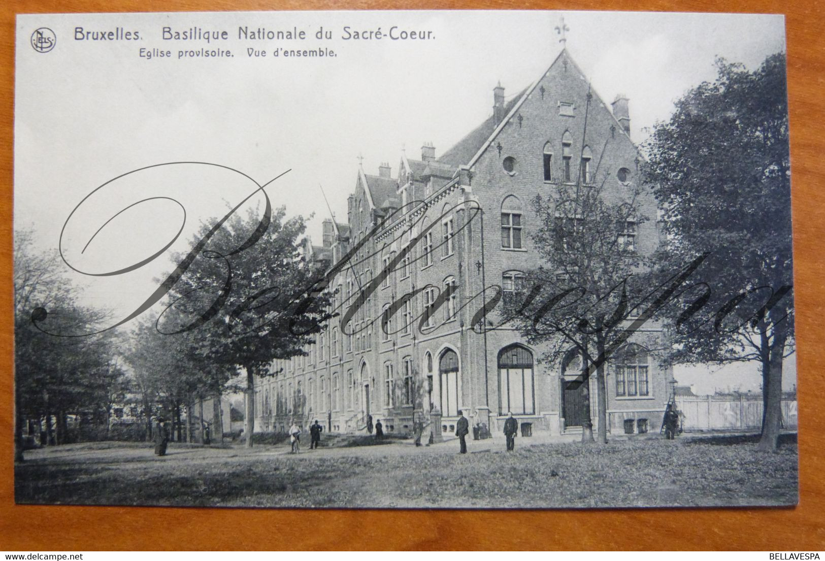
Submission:
[[[781,15],[16,19],[16,502],[794,505]]]

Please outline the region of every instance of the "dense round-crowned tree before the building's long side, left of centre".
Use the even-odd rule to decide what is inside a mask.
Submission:
[[[212,229],[204,224],[192,247]],[[275,359],[305,354],[303,347],[314,342],[329,317],[323,271],[316,275],[301,258],[304,230],[304,219],[286,219],[283,207],[275,213],[267,207],[262,218],[233,214],[172,287],[164,312],[173,310],[177,318],[163,332],[194,330],[193,353],[216,365],[243,367],[247,446],[254,430],[255,377],[271,374]]]

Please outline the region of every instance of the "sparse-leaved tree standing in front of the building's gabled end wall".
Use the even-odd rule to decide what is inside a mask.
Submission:
[[[544,264],[529,271],[530,290],[504,293],[507,315],[527,340],[548,351],[541,360],[561,365],[575,349],[581,375],[575,384],[590,379],[598,387],[598,441],[607,441],[606,361],[628,338],[629,302],[647,293],[633,271],[643,271],[648,257],[634,247],[634,232],[648,217],[643,191],[629,187],[623,194],[607,193],[610,170],[603,170],[587,185],[560,183],[551,196],[533,201],[540,224],[534,244]],[[518,282],[518,280],[516,280]],[[589,409],[586,413],[590,417]],[[592,423],[584,422],[582,441],[592,441]]]

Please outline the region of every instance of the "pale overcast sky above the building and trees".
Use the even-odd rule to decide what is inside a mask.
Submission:
[[[387,161],[397,174],[402,148],[420,156],[424,141],[443,153],[492,112],[493,87],[512,96],[535,81],[559,53],[554,26],[564,16],[568,50],[609,103],[630,99],[637,142],[667,120],[676,98],[715,75],[714,58],[755,68],[785,50],[782,16],[635,12],[247,12],[239,14],[102,14],[18,16],[16,46],[15,225],[33,226],[43,247],[57,247],[69,212],[92,189],[155,163],[199,161],[233,167],[259,182],[292,171],[267,189],[275,205],[309,215],[319,241],[332,209],[346,219],[356,157],[368,173]],[[34,29],[57,36],[49,53],[31,49]],[[137,30],[140,41],[78,41],[74,29]],[[163,26],[225,30],[229,40],[162,40]],[[307,31],[304,41],[241,41],[238,26]],[[312,36],[318,27],[332,40]],[[427,30],[427,41],[342,40],[342,29]],[[276,47],[337,51],[325,59],[271,57]],[[142,59],[140,47],[172,51]],[[181,49],[229,49],[234,58],[178,60]],[[247,47],[270,51],[248,58]],[[231,172],[181,168],[121,181],[108,198],[82,209],[67,229],[73,264],[104,271],[145,257],[180,228],[182,210],[156,200],[112,224],[96,246],[78,240],[97,229],[103,209],[135,194],[174,196],[186,208],[181,250],[200,219],[223,214],[252,183]],[[104,191],[106,192],[106,191]],[[148,195],[147,195],[148,194]],[[259,203],[259,197],[250,201]],[[85,214],[84,214],[85,211]],[[111,214],[106,215],[106,219]],[[117,221],[115,221],[116,223]],[[94,250],[94,251],[92,251]],[[115,265],[113,265],[113,263]],[[92,299],[121,313],[169,269],[158,259],[125,276],[93,280]],[[76,276],[89,284],[89,277]]]

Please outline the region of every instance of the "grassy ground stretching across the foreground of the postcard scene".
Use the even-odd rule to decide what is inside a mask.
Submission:
[[[28,452],[20,503],[198,507],[651,507],[791,505],[795,437],[681,437],[606,446],[537,444],[467,455],[446,443],[286,454],[285,445],[204,448],[95,443]],[[503,447],[503,446],[502,446]]]

